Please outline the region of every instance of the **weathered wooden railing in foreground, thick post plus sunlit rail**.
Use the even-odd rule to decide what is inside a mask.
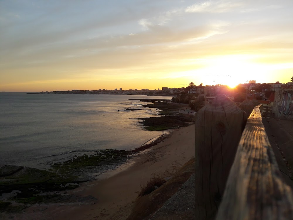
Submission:
[[[195,219],[293,219],[292,189],[282,180],[260,106],[246,121],[219,96],[197,112]]]

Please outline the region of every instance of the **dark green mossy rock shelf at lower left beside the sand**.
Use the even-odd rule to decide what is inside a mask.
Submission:
[[[9,176],[0,177],[0,193],[10,193],[19,190],[9,202],[1,201],[0,212],[15,213],[35,203],[59,203],[72,202],[95,203],[94,197],[80,197],[71,195],[64,196],[67,190],[75,189],[79,182],[86,181],[81,177],[85,169],[99,166],[115,166],[126,163],[134,152],[130,150],[105,149],[99,150],[92,155],[74,156],[63,163],[55,163],[49,171],[31,167],[6,166],[2,170],[15,171]],[[9,168],[9,169],[8,169]],[[5,172],[6,175],[8,172]],[[60,193],[62,192],[62,194]],[[46,192],[47,194],[40,194]],[[10,201],[22,203],[15,206]]]

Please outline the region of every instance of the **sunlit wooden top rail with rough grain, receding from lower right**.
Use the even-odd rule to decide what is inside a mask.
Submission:
[[[260,106],[247,120],[217,220],[293,219],[292,189],[282,181]]]

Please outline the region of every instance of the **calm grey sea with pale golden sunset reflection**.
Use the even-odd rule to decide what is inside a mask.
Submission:
[[[134,106],[144,104],[128,100],[134,98],[144,97],[1,92],[0,165],[40,168],[100,149],[139,147],[162,132],[139,126],[136,118],[156,117],[157,112]]]

